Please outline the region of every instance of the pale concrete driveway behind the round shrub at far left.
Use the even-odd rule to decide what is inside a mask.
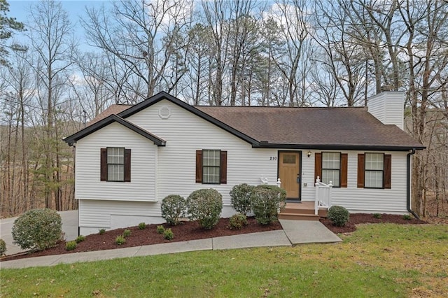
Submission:
[[[60,211],[62,218],[62,231],[66,240],[74,240],[78,236],[78,211]],[[6,255],[13,255],[22,252],[22,248],[13,244],[13,229],[16,218],[4,218],[0,220],[0,238],[6,242]]]

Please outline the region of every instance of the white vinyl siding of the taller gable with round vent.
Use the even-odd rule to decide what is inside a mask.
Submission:
[[[159,117],[160,108],[169,108],[168,119]],[[276,183],[278,150],[252,148],[250,143],[169,101],[160,101],[127,120],[167,141],[165,147],[158,148],[159,200],[169,194],[188,197],[194,190],[211,187],[223,195],[223,205],[230,206],[229,192],[234,185],[258,185],[261,177],[269,184]],[[228,152],[227,184],[195,183],[196,150],[204,149]]]

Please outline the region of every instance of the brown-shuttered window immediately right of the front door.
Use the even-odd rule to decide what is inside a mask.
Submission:
[[[314,179],[334,187],[347,187],[348,155],[341,152],[316,152],[314,154]]]

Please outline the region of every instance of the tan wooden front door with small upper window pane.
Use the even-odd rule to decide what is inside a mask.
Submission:
[[[300,200],[300,152],[279,152],[279,178],[286,197]]]

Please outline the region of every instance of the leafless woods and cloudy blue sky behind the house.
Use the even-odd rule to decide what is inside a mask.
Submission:
[[[2,216],[76,208],[62,138],[159,91],[242,106],[365,106],[381,87],[405,91],[407,132],[427,147],[412,208],[448,205],[447,1],[108,3],[73,22],[62,3],[33,2],[16,22],[0,0]]]

